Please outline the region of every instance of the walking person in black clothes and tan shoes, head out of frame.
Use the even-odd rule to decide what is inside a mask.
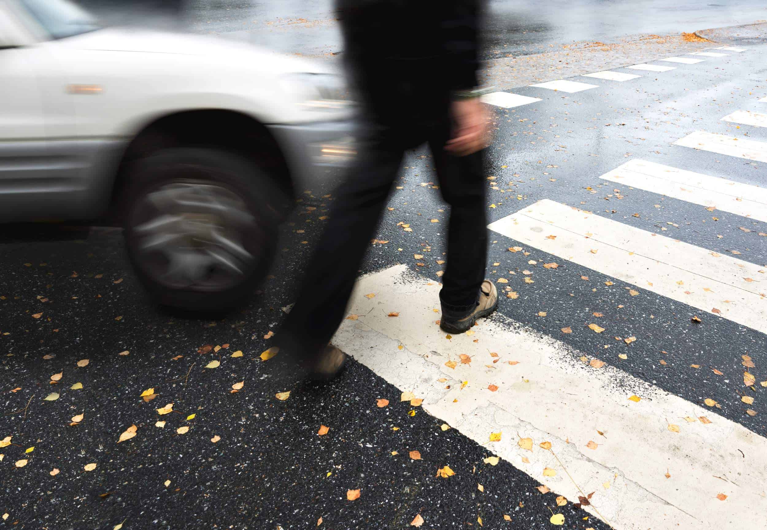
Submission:
[[[318,379],[334,377],[346,360],[329,341],[407,149],[429,144],[450,206],[441,328],[467,331],[498,305],[495,285],[485,279],[479,0],[341,0],[337,7],[365,123],[357,160],[278,334],[281,350]]]

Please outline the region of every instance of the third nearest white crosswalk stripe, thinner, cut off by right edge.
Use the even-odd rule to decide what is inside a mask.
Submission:
[[[638,159],[630,160],[599,178],[638,189],[647,189],[653,193],[693,202],[706,208],[715,206],[723,212],[767,222],[767,188],[749,186],[716,176],[678,170],[676,167]],[[623,189],[622,192],[625,195],[627,190]]]

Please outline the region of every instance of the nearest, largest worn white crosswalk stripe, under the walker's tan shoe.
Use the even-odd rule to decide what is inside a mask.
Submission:
[[[519,283],[518,289],[524,288]],[[615,367],[594,369],[560,341],[500,315],[480,321],[470,337],[461,334],[446,340],[435,324],[439,314],[433,312],[439,308],[439,288],[436,282],[407,272],[405,265],[360,278],[349,309],[360,316],[341,324],[334,344],[400,391],[422,398],[423,405],[413,407],[416,414],[424,410],[436,416],[439,423],[448,423],[485,446],[488,456],[501,456],[577,502],[581,493],[569,473],[584,492],[595,492],[591,502],[617,530],[723,530],[735,528],[742,514],[765,520],[761,494],[767,440]],[[365,298],[369,293],[376,296]],[[399,311],[400,316],[388,317],[390,311]],[[549,312],[546,318],[556,316]],[[584,324],[572,327],[574,333],[593,333]],[[621,343],[619,351],[613,344],[605,351],[644,355],[641,347],[634,349],[639,341],[630,346]],[[498,363],[492,363],[495,358],[489,352],[499,354]],[[472,362],[462,364],[461,354],[472,357]],[[454,370],[446,367],[449,360],[458,363]],[[507,361],[512,360],[518,364],[510,366]],[[488,390],[490,384],[498,390]],[[632,394],[641,398],[639,403],[627,399]],[[407,430],[405,420],[382,413],[387,424]],[[712,423],[687,423],[683,420],[687,416],[706,416]],[[669,423],[681,432],[668,430]],[[442,434],[439,426],[434,429],[434,436]],[[501,441],[489,442],[490,433],[502,433]],[[532,438],[532,450],[520,448],[518,436]],[[597,449],[587,448],[591,440]],[[551,442],[551,451],[538,445],[543,442]],[[387,450],[403,453],[405,447]],[[412,448],[428,451],[428,446]],[[431,458],[443,459],[439,467],[455,461],[454,456]],[[545,468],[555,470],[555,476],[544,476]],[[732,482],[715,478],[725,476]],[[726,502],[716,499],[718,493],[728,495]],[[591,507],[584,509],[596,517]],[[569,509],[560,512],[568,527],[580,522],[581,515]]]

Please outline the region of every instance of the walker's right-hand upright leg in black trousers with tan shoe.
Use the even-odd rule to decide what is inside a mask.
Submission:
[[[439,176],[439,187],[450,206],[447,268],[439,293],[443,324],[460,320],[472,311],[481,313],[475,314],[476,318],[489,314],[497,302],[495,288],[485,282],[487,184],[483,172],[484,155],[482,151],[467,156],[450,155],[444,150],[448,138],[446,120],[445,124],[436,127],[429,143]],[[492,299],[487,300],[488,296]],[[458,327],[470,327],[472,323],[473,320],[469,320],[458,324]],[[446,326],[443,325],[443,328]]]

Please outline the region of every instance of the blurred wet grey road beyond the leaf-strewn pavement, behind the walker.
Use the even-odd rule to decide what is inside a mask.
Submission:
[[[112,24],[168,25],[170,2],[78,0]],[[175,3],[175,2],[174,2]],[[126,8],[130,5],[130,8]],[[156,6],[160,6],[157,8]],[[152,21],[154,15],[156,20]],[[403,13],[407,17],[407,13]],[[187,0],[183,25],[192,31],[242,38],[288,53],[341,51],[333,2],[328,0]],[[574,41],[611,42],[627,35],[678,35],[682,31],[767,19],[761,0],[547,0],[487,4],[484,58],[550,51]],[[396,35],[393,32],[393,37]]]

